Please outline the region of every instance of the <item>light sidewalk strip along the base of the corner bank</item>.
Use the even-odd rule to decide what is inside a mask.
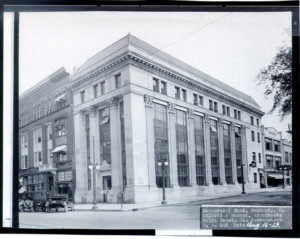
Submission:
[[[290,191],[292,187],[288,186],[285,189],[275,187],[275,188],[261,188],[256,190],[248,190],[247,194],[251,193],[259,193],[259,192],[272,192],[272,191]],[[180,199],[168,199],[168,204],[162,205],[161,202],[145,202],[139,204],[109,204],[109,203],[97,203],[98,209],[96,211],[110,211],[110,212],[117,212],[117,211],[138,211],[138,210],[145,210],[147,208],[153,207],[165,207],[168,205],[175,205],[180,203],[188,203],[194,201],[204,201],[209,199],[217,199],[217,198],[224,198],[230,196],[237,196],[240,195],[240,192],[234,193],[223,193],[223,194],[209,194],[197,197],[190,197],[190,198],[180,198]],[[75,211],[92,211],[93,204],[75,204],[74,210]]]

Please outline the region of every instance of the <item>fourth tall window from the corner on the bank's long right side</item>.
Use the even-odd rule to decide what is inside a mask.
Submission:
[[[220,184],[219,172],[219,146],[217,121],[210,120],[210,153],[211,153],[211,174],[212,182],[215,185]]]

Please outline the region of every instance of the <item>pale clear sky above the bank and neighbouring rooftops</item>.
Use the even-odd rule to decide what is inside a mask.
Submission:
[[[268,114],[273,98],[258,85],[280,46],[291,45],[289,12],[21,13],[22,94],[64,66],[70,73],[128,33],[250,96],[266,112],[262,124],[287,134],[291,117]]]

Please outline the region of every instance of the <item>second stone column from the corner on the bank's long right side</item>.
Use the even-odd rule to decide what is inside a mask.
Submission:
[[[174,103],[168,103],[169,112],[169,152],[170,152],[170,179],[173,188],[179,187],[177,174],[177,149],[176,149],[176,115]]]

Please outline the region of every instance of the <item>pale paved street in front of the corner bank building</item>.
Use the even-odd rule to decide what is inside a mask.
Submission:
[[[153,207],[140,211],[20,213],[21,228],[199,229],[201,204],[291,206],[291,191],[261,192]]]

